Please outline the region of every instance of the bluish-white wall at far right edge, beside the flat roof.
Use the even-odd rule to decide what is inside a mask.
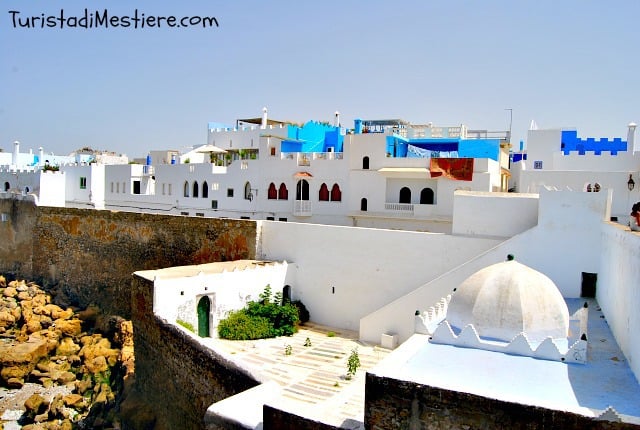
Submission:
[[[607,223],[601,235],[596,298],[640,381],[640,233]]]

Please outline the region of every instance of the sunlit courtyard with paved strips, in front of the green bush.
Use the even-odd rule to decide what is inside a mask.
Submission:
[[[390,352],[358,341],[357,332],[314,323],[306,323],[291,337],[252,341],[206,339],[206,344],[232,356],[242,367],[276,382],[280,386],[279,395],[269,398],[269,405],[352,429],[362,428],[364,421],[365,372]],[[354,349],[361,366],[355,377],[347,380],[347,360]]]

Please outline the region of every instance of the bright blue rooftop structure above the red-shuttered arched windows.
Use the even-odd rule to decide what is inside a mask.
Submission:
[[[280,146],[282,152],[342,152],[344,136],[339,127],[309,121],[302,127],[289,125],[287,140]]]

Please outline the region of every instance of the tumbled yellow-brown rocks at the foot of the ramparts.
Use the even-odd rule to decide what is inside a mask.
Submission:
[[[38,285],[7,284],[0,276],[0,386],[35,382],[65,386],[69,393],[50,401],[31,396],[20,420],[24,429],[53,421],[56,428],[106,426],[115,419],[124,378],[132,379],[133,362],[130,321],[104,316],[95,306],[63,309]]]

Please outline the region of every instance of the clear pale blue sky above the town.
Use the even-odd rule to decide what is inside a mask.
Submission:
[[[212,29],[25,29],[21,17],[214,16]],[[0,6],[0,148],[143,156],[209,121],[402,118],[581,137],[640,122],[640,2],[17,1]]]

